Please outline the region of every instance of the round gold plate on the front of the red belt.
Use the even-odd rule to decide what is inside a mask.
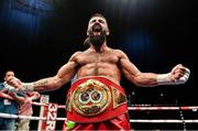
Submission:
[[[73,108],[80,114],[91,117],[103,112],[111,102],[110,89],[99,80],[89,79],[73,92]]]

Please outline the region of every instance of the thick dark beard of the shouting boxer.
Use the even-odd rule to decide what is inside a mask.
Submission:
[[[106,31],[101,31],[100,35],[94,35],[94,33],[90,33],[89,35],[90,43],[97,48],[101,47],[106,39],[107,39]]]

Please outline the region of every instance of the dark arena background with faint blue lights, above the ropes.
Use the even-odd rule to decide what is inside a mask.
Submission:
[[[140,70],[168,73],[178,63],[191,70],[188,81],[177,86],[139,88],[123,77],[130,105],[198,103],[196,0],[1,0],[1,79],[8,68],[23,81],[55,75],[73,53],[82,51],[96,12],[109,23],[108,46],[124,51]],[[64,105],[69,85],[43,94]]]

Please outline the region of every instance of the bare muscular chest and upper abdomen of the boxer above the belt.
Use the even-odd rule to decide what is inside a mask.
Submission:
[[[77,62],[80,65],[78,69],[79,76],[102,75],[112,77],[119,74],[119,56],[113,53],[86,54],[78,57]]]

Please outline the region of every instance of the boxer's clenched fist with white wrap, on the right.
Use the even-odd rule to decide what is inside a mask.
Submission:
[[[170,80],[175,84],[184,84],[188,80],[190,70],[182,64],[176,65],[169,73]]]

